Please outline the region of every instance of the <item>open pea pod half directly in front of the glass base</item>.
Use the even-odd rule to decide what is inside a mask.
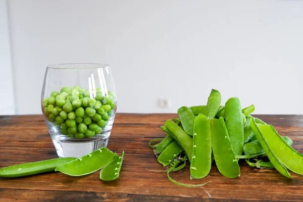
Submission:
[[[102,147],[88,155],[58,166],[55,171],[70,176],[87,175],[102,169],[112,162],[115,157],[117,157],[117,154],[106,147]]]

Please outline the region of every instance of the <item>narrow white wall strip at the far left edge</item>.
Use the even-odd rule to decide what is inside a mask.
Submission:
[[[7,0],[0,0],[0,115],[15,114]]]

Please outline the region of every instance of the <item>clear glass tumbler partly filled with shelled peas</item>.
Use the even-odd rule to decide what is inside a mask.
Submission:
[[[41,109],[59,157],[82,157],[107,146],[117,110],[110,67],[47,66]]]

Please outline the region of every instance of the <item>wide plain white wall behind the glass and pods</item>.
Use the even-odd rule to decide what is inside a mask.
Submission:
[[[46,65],[110,64],[118,112],[203,105],[303,114],[303,1],[11,0],[18,114],[40,113]],[[170,99],[170,108],[157,106]]]

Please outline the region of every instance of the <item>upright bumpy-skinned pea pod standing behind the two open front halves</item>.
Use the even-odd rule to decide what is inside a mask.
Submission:
[[[240,101],[232,97],[225,103],[225,120],[231,147],[235,156],[242,154],[244,145],[244,126]]]

